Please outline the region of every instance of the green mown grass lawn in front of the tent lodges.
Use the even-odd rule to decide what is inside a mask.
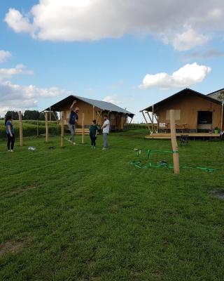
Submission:
[[[171,150],[144,134],[112,133],[106,151],[102,136],[96,150],[55,137],[9,153],[0,141],[0,280],[224,280],[224,200],[211,195],[224,190],[224,143],[180,147],[181,165],[218,170],[174,176],[130,165],[134,148]]]

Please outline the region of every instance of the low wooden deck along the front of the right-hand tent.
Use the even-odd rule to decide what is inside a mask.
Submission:
[[[188,135],[189,138],[220,138],[219,133],[176,133],[176,136]],[[148,139],[169,139],[170,133],[151,133],[149,136],[145,136]]]

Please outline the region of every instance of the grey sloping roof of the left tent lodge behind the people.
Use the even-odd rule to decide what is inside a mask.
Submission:
[[[44,111],[61,111],[63,107],[65,107],[68,104],[71,104],[73,100],[83,100],[85,103],[89,103],[90,105],[94,105],[95,107],[98,107],[101,110],[106,111],[113,111],[113,112],[121,112],[125,113],[127,115],[130,115],[131,117],[134,116],[134,114],[128,110],[123,109],[122,107],[119,107],[118,105],[114,105],[113,103],[108,103],[103,100],[92,100],[90,98],[83,98],[80,96],[68,96],[67,98],[64,98],[64,100],[60,100],[58,103],[55,103],[54,105],[51,105],[50,107],[46,108]]]

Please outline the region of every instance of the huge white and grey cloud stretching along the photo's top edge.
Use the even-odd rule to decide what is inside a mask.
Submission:
[[[27,14],[10,8],[5,22],[15,32],[41,40],[153,34],[188,50],[205,44],[209,34],[223,32],[223,17],[223,0],[39,0]]]

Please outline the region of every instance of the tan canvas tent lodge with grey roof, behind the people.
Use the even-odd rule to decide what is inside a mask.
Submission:
[[[92,124],[92,120],[96,119],[97,124],[102,126],[104,122],[104,115],[109,117],[111,123],[112,130],[122,130],[128,124],[130,117],[131,121],[134,117],[132,112],[129,112],[113,103],[108,103],[101,100],[92,100],[90,98],[83,98],[80,96],[68,96],[63,100],[60,100],[58,103],[51,105],[50,107],[46,108],[45,112],[62,112],[63,115],[63,122],[64,124],[68,124],[69,122],[69,115],[71,112],[71,104],[73,101],[76,100],[76,104],[74,107],[79,107],[80,112],[78,114],[78,128],[82,126],[85,127],[85,132],[88,131],[89,126]],[[83,118],[84,117],[84,118]],[[130,121],[130,122],[131,122]],[[80,130],[77,130],[80,133]]]

